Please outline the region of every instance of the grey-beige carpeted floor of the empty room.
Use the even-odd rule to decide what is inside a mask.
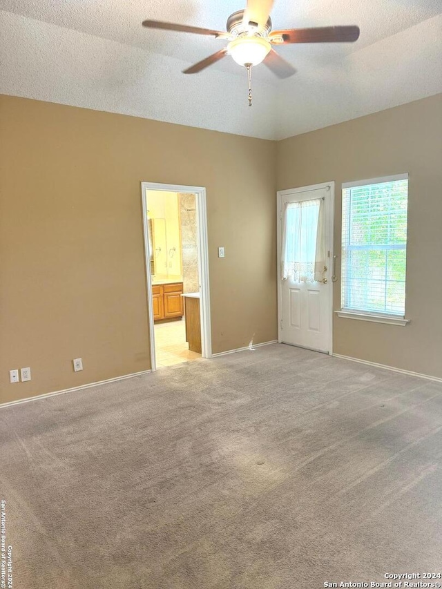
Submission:
[[[440,383],[285,345],[6,407],[13,586],[441,572],[441,458]]]

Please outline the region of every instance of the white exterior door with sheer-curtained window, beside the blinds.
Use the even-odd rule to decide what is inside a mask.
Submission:
[[[332,351],[330,343],[332,329],[332,268],[330,266],[333,260],[333,189],[333,183],[329,183],[278,193],[278,340],[283,343],[324,352]],[[287,235],[291,235],[296,229],[297,235],[300,235],[298,241],[302,241],[302,248],[310,251],[315,251],[316,248],[316,233],[312,233],[311,227],[307,226],[311,224],[311,212],[307,213],[307,215],[305,213],[300,215],[296,213],[299,210],[298,206],[292,206],[292,208],[289,207],[291,214],[284,214],[284,211],[287,211],[287,204],[298,203],[300,206],[305,205],[304,211],[312,211],[316,205],[307,201],[318,202],[318,200],[323,200],[325,220],[325,267],[327,269],[323,273],[323,282],[313,282],[311,276],[306,280],[305,276],[300,276],[302,271],[300,273],[289,273],[287,279],[282,280],[281,258],[284,256],[282,256],[281,250],[282,235],[284,235],[285,231],[287,231]],[[317,214],[316,212],[316,218]],[[286,224],[286,226],[284,227],[283,224]],[[297,224],[296,228],[294,224]],[[314,226],[316,227],[316,224]],[[298,245],[294,247],[296,249]]]

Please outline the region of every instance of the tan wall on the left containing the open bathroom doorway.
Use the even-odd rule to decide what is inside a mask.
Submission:
[[[275,156],[263,139],[0,96],[0,402],[149,369],[143,180],[206,187],[213,352],[275,339]]]

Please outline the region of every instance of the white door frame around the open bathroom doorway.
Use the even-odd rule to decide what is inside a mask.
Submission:
[[[147,307],[149,318],[149,334],[151,347],[151,369],[157,369],[155,358],[155,329],[153,321],[153,295],[151,275],[151,252],[149,251],[148,222],[147,222],[147,191],[156,190],[195,195],[197,240],[198,240],[198,276],[200,280],[200,318],[201,318],[201,351],[202,358],[212,357],[212,338],[210,321],[209,294],[209,244],[207,239],[207,206],[206,189],[204,186],[184,186],[182,184],[157,184],[157,182],[142,182],[142,210],[144,233],[144,264],[146,267]]]

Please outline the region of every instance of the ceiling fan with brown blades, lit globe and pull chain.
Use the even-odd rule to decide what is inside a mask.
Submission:
[[[251,67],[261,62],[280,78],[287,78],[296,70],[272,48],[272,45],[286,45],[294,43],[336,43],[353,42],[359,37],[357,26],[332,26],[319,28],[294,28],[285,30],[271,30],[269,13],[274,0],[247,0],[247,8],[233,12],[227,19],[227,32],[208,28],[193,27],[162,21],[146,20],[143,26],[192,32],[195,35],[209,35],[215,39],[229,41],[227,47],[198,61],[184,74],[195,74],[220,61],[226,55],[231,55],[237,64],[247,68],[249,77],[249,106],[251,106]]]

